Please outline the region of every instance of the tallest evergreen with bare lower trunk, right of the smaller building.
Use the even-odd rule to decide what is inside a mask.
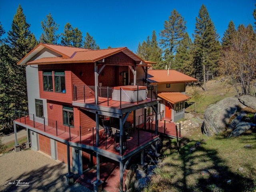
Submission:
[[[194,67],[196,78],[203,79],[206,90],[206,79],[216,76],[218,72],[218,59],[220,56],[220,42],[218,34],[209,13],[204,5],[196,17],[196,29],[194,30]]]

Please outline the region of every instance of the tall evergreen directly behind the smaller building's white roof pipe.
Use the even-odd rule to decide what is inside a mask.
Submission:
[[[164,22],[164,29],[160,32],[160,45],[164,50],[164,60],[170,62],[174,58],[176,48],[182,40],[186,31],[186,21],[174,9],[169,16],[169,20]]]

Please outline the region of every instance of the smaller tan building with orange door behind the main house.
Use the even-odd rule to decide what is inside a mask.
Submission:
[[[148,70],[148,85],[152,86],[154,98],[160,100],[158,119],[176,122],[185,115],[186,84],[197,79],[176,70]],[[157,86],[156,86],[157,85]]]

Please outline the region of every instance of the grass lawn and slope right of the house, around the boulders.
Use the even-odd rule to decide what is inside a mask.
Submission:
[[[235,96],[225,80],[212,80],[206,86],[205,92],[197,88],[201,99],[196,115],[201,119],[210,104]],[[192,96],[194,89],[187,87],[186,93]],[[186,112],[194,112],[194,104],[188,105]],[[164,139],[165,166],[154,170],[144,192],[256,192],[255,130],[236,138],[228,138],[225,133],[207,138],[198,130],[180,140],[180,154],[176,139]],[[190,152],[196,142],[200,142],[200,147]]]

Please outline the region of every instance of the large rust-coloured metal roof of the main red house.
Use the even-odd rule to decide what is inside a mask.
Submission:
[[[38,60],[29,60],[33,58],[38,52],[40,52],[43,48],[48,48],[62,57],[48,57],[48,58],[40,58]],[[114,55],[118,52],[123,52],[136,62],[139,62],[141,66],[147,66],[146,62],[139,58],[136,54],[128,50],[126,47],[122,48],[110,48],[110,49],[100,49],[100,50],[90,50],[84,48],[76,48],[76,47],[68,47],[61,45],[52,45],[52,44],[38,44],[32,51],[30,51],[20,62],[18,65],[25,64],[58,64],[58,63],[79,63],[79,62],[97,62],[106,58],[108,56]]]

